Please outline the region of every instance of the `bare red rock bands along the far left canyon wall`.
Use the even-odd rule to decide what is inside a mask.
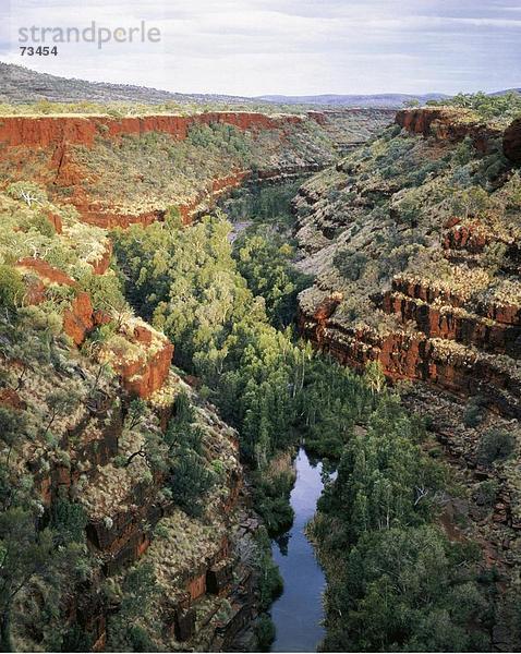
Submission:
[[[131,118],[110,118],[105,116],[52,116],[52,117],[4,117],[0,121],[0,145],[4,146],[2,158],[11,160],[11,170],[24,167],[24,150],[31,148],[41,150],[47,164],[39,177],[44,180],[52,175],[51,191],[65,190],[71,202],[80,211],[82,219],[90,225],[106,229],[114,227],[126,228],[134,223],[150,225],[162,220],[166,208],[150,208],[149,210],[125,211],[111,207],[110,202],[104,198],[90,197],[84,190],[83,183],[88,177],[82,162],[76,160],[74,146],[84,146],[89,149],[96,147],[96,140],[104,138],[118,141],[123,135],[142,136],[149,132],[168,134],[174,141],[184,141],[190,129],[196,124],[229,124],[241,131],[259,134],[265,131],[279,131],[281,138],[288,128],[299,125],[305,120],[317,123],[326,120],[320,112],[311,112],[305,116],[266,116],[258,112],[246,111],[214,111],[196,113],[193,116],[147,116]],[[316,170],[316,168],[315,168]],[[291,177],[295,167],[282,166],[281,168],[262,171],[262,179],[282,179]],[[181,216],[190,222],[197,214],[211,208],[223,193],[240,185],[251,175],[250,170],[235,170],[210,180],[209,185],[202,184],[201,191],[192,201],[178,202]],[[166,201],[167,198],[165,198]],[[165,204],[163,201],[163,204]]]

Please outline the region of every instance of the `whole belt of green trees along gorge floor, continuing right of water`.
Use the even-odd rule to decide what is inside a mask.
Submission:
[[[135,306],[181,343],[180,363],[239,428],[259,473],[256,507],[271,531],[291,522],[293,479],[278,452],[299,435],[317,453],[340,459],[313,525],[329,572],[326,649],[486,649],[480,557],[434,525],[447,481],[423,453],[423,422],[384,390],[376,364],[356,377],[277,331],[269,318],[277,324],[286,313],[272,292],[291,250],[284,262],[277,238],[255,228],[235,242],[233,258],[229,229],[221,218],[183,229],[174,217],[165,227],[132,228],[118,235],[119,262]],[[256,264],[243,268],[249,286],[266,300],[240,275],[244,251]],[[291,296],[291,284],[283,288],[281,296]]]

